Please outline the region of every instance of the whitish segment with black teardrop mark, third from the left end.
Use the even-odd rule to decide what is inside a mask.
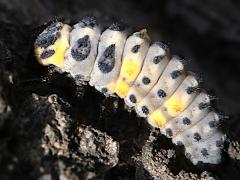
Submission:
[[[119,76],[126,34],[116,24],[106,29],[99,41],[96,58],[89,84],[98,91],[112,94],[112,86]]]

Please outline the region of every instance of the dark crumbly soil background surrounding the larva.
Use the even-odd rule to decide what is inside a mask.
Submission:
[[[232,1],[0,1],[0,179],[237,179],[240,177],[240,3]],[[229,116],[218,166],[194,167],[118,98],[41,67],[33,41],[45,22],[146,27],[202,72]],[[46,78],[46,81],[42,79]]]

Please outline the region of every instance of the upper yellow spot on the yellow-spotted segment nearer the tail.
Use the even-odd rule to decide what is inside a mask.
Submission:
[[[164,106],[166,107],[168,114],[175,117],[184,110],[186,105],[181,101],[180,96],[173,95],[165,102]]]

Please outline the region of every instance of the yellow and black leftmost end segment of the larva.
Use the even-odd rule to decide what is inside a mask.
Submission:
[[[70,26],[56,22],[48,26],[36,39],[35,56],[40,64],[63,68],[65,51],[69,47]]]

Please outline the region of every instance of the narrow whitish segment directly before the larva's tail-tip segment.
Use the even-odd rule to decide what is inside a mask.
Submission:
[[[205,118],[193,127],[175,136],[172,141],[174,144],[182,142],[185,146],[190,146],[200,141],[204,141],[218,131],[219,116],[211,111]]]

